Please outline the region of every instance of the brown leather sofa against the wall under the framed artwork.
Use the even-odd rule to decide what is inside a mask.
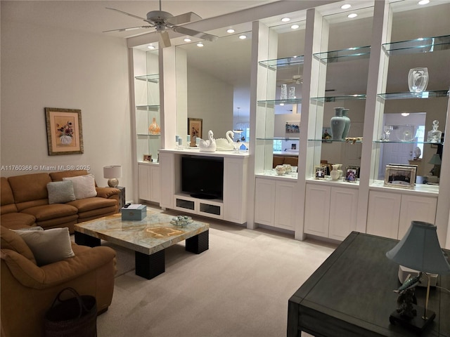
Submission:
[[[117,213],[120,190],[113,187],[96,186],[96,197],[49,204],[48,183],[86,174],[85,170],[76,170],[1,177],[1,225],[12,229],[68,227],[72,233],[75,223]]]

